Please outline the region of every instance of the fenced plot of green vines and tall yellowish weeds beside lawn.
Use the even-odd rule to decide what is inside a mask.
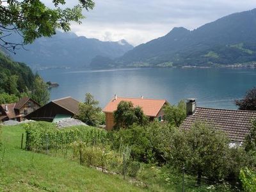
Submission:
[[[63,156],[102,171],[127,173],[134,177],[140,164],[130,159],[131,147],[120,143],[118,150],[109,145],[108,132],[90,126],[59,129],[55,124],[35,122],[25,125],[26,150]]]

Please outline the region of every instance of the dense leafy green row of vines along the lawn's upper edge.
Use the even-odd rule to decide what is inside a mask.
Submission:
[[[26,150],[70,148],[74,141],[82,141],[86,145],[99,145],[106,142],[106,138],[105,130],[90,126],[79,125],[58,129],[55,124],[47,122],[26,124]]]

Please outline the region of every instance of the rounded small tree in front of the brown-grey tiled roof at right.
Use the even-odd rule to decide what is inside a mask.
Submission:
[[[202,175],[211,179],[222,179],[225,176],[228,138],[209,124],[196,122],[186,132],[188,145],[187,166],[197,174],[200,185]]]

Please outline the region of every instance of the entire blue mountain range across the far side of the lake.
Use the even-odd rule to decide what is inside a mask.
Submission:
[[[136,47],[61,33],[19,50],[17,61],[44,67],[182,67],[256,63],[256,9],[233,13],[192,31],[173,28]]]

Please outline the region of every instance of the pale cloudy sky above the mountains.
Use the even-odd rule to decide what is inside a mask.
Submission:
[[[44,0],[50,3],[51,0]],[[68,1],[68,0],[67,0]],[[72,6],[78,1],[68,1]],[[72,23],[79,36],[102,41],[127,40],[136,46],[166,35],[174,27],[196,29],[231,13],[256,8],[255,0],[95,0],[82,24]]]

